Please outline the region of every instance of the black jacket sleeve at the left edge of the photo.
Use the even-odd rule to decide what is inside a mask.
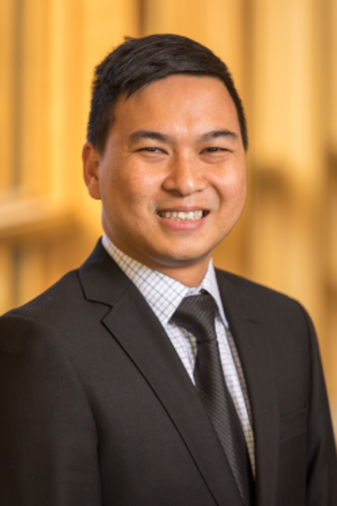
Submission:
[[[93,415],[48,332],[15,313],[0,318],[1,504],[100,506]]]

